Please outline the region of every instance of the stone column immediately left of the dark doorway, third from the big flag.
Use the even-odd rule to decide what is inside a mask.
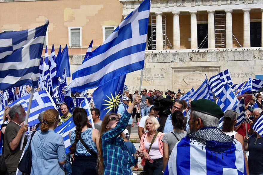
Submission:
[[[191,14],[191,49],[197,49],[197,11],[189,11]]]

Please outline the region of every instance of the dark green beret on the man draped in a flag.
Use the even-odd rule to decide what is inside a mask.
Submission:
[[[224,116],[224,112],[221,110],[220,106],[207,99],[193,100],[191,102],[191,109],[214,116],[218,119]]]

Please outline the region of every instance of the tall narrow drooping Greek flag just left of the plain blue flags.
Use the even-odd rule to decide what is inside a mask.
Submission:
[[[52,44],[51,54],[49,58],[49,75],[52,82],[52,91],[53,94],[56,94],[56,87],[58,84],[58,78],[56,77],[56,55],[55,55],[55,49],[54,44]]]

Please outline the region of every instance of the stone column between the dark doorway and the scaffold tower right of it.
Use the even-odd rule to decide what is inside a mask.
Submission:
[[[207,10],[208,13],[208,48],[215,48],[215,10]]]

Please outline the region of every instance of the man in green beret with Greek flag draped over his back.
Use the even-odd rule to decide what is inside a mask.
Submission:
[[[175,145],[164,174],[247,174],[241,143],[217,128],[223,116],[210,100],[192,101],[187,136]]]

